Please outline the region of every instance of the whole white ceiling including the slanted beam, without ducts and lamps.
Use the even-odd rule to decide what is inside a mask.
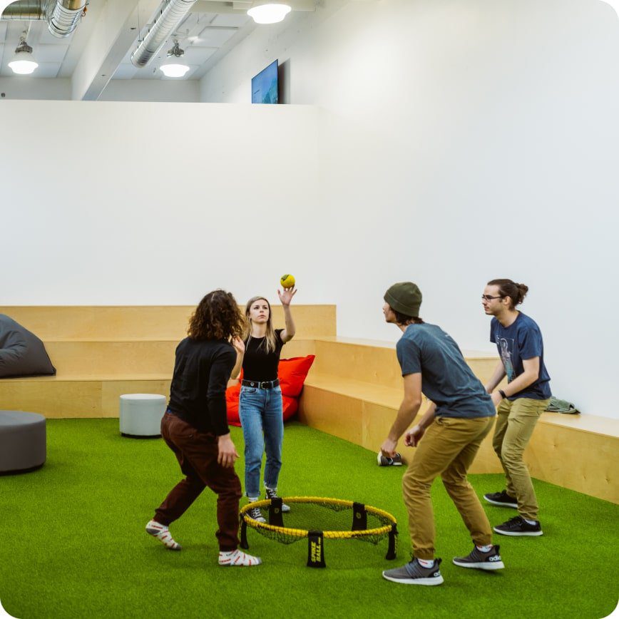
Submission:
[[[296,3],[296,6],[295,4]],[[74,99],[96,99],[111,79],[198,80],[257,26],[247,16],[250,1],[201,0],[178,24],[148,66],[136,68],[131,54],[158,15],[161,0],[89,0],[85,16],[66,39],[49,34],[46,21],[0,21],[0,76],[14,77],[8,66],[21,33],[39,68],[32,78],[71,78]],[[318,0],[293,0],[293,10],[315,10]],[[190,67],[184,78],[166,78],[159,66],[178,39]]]

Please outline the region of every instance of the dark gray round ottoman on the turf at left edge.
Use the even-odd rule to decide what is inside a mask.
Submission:
[[[39,469],[46,456],[43,415],[0,411],[0,474],[25,473]]]

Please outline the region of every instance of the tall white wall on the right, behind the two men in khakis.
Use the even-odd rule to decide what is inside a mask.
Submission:
[[[247,101],[279,58],[290,101],[321,106],[322,202],[341,239],[340,334],[394,339],[382,292],[414,280],[422,314],[490,349],[479,296],[531,292],[553,391],[619,417],[619,19],[598,0],[329,3],[257,29],[203,78]],[[336,10],[334,10],[336,9]],[[339,9],[339,10],[337,10]],[[339,251],[338,251],[339,250]],[[610,310],[610,315],[608,315]]]

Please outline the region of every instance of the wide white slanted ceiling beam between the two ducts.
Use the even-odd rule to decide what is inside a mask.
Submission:
[[[71,97],[96,101],[160,0],[107,0],[73,77]]]

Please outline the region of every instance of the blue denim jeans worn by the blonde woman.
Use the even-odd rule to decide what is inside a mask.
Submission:
[[[256,498],[260,496],[260,464],[265,449],[267,488],[277,488],[277,479],[282,468],[284,440],[282,389],[241,387],[239,417],[245,439],[245,494],[250,498]]]

